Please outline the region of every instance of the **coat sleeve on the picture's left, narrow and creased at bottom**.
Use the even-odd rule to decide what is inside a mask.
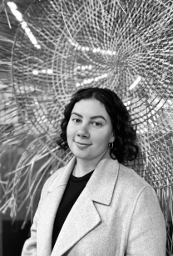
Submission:
[[[40,201],[38,203],[37,211],[33,218],[33,223],[32,223],[32,227],[31,227],[31,237],[28,238],[26,240],[26,242],[24,243],[24,246],[22,248],[22,256],[37,256],[37,221],[39,218],[39,212],[40,212],[40,208],[42,206],[42,202],[47,195],[48,180],[49,179],[47,179],[47,182],[44,184],[44,186],[42,188]]]

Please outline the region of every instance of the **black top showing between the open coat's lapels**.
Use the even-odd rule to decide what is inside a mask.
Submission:
[[[70,212],[73,204],[77,201],[80,193],[82,193],[82,190],[85,188],[92,173],[93,171],[82,177],[75,177],[71,174],[67,187],[63,193],[62,201],[57,209],[52,233],[52,248],[57,241],[58,234],[61,231],[62,225],[65,222],[68,213]]]

